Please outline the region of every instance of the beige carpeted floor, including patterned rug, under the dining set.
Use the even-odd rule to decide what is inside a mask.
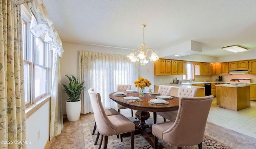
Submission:
[[[94,126],[94,115],[86,114],[81,115],[81,118],[78,121],[70,122],[66,119],[64,120],[64,129],[62,133],[52,141],[50,141],[47,149],[97,149],[98,145],[94,145],[96,135],[92,135],[92,128]],[[256,148],[256,139],[243,135],[236,131],[214,125],[212,123],[206,124],[205,137],[208,139],[204,142],[204,149],[213,149],[213,144],[218,144],[219,147],[216,149],[222,149],[221,147],[226,147],[227,149],[255,149]],[[117,139],[116,136],[112,137],[112,142],[110,139],[108,141],[109,149],[129,149],[130,148],[130,137],[124,138],[124,142],[120,142],[120,139]],[[117,141],[117,142],[114,142]],[[100,139],[98,141],[98,144]],[[142,145],[142,142],[145,143]],[[135,149],[152,149],[149,144],[140,136],[136,135]],[[118,144],[115,146],[115,144]],[[121,144],[121,145],[120,145]],[[206,146],[209,147],[206,147]],[[168,146],[165,146],[166,149]],[[196,148],[197,145],[195,146]],[[174,147],[176,149],[176,147]],[[194,147],[187,147],[183,149],[194,149]]]

